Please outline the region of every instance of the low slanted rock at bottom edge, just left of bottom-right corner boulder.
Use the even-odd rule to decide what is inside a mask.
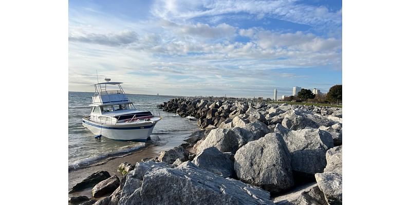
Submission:
[[[277,205],[326,205],[324,193],[316,183],[297,187],[290,192],[274,198]]]

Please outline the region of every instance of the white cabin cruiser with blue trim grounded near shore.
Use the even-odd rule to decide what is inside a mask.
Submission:
[[[115,140],[146,141],[150,139],[160,117],[150,111],[139,111],[124,93],[120,82],[95,84],[90,115],[83,117],[83,126],[92,133]],[[116,90],[108,87],[118,86]]]

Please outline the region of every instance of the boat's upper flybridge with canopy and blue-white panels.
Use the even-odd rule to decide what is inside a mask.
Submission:
[[[92,103],[95,105],[129,103],[120,82],[109,82],[94,84],[95,94]],[[115,88],[113,88],[115,87]]]

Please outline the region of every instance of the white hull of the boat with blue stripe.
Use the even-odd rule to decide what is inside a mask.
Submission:
[[[93,134],[101,134],[104,137],[114,140],[147,141],[153,132],[157,121],[150,121],[139,124],[108,125],[90,121],[83,118],[83,126]]]

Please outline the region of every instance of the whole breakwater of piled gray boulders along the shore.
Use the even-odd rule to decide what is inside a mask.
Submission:
[[[205,132],[186,139],[193,148],[125,164],[95,204],[342,203],[341,108],[182,98],[162,108]]]

